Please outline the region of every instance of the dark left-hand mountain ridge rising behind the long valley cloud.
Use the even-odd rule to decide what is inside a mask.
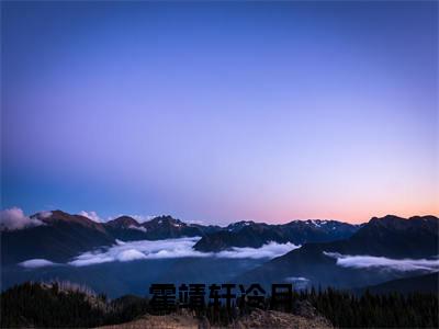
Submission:
[[[70,258],[120,240],[158,240],[204,235],[204,226],[191,226],[170,216],[159,216],[138,223],[121,216],[108,223],[97,223],[81,215],[53,211],[31,218],[43,223],[23,229],[1,231],[2,264],[29,259],[66,262]],[[206,227],[206,230],[213,228]]]

